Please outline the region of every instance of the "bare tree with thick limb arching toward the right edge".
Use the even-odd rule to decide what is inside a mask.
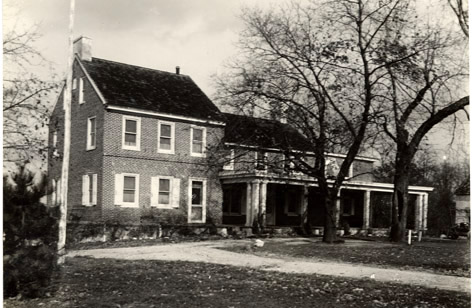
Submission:
[[[377,60],[383,63],[379,71],[384,74],[385,88],[381,105],[374,108],[379,124],[396,147],[393,241],[401,241],[405,233],[411,166],[423,138],[469,104],[468,96],[457,97],[461,82],[467,79],[467,64],[460,56],[461,41],[430,25],[405,23],[390,27],[384,48],[376,51]],[[392,54],[406,60],[392,62]]]

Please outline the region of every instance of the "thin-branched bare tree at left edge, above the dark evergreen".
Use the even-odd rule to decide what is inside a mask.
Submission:
[[[47,65],[33,47],[35,29],[10,31],[3,38],[3,149],[4,162],[46,159],[46,133],[51,95],[57,83],[31,73]]]

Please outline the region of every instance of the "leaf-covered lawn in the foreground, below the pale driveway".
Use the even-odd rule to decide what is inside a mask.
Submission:
[[[470,307],[469,295],[417,286],[224,265],[69,258],[51,296],[5,307]]]

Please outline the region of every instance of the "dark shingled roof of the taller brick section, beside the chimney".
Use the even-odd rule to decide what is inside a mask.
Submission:
[[[110,105],[221,120],[218,108],[187,75],[98,58],[81,63]]]

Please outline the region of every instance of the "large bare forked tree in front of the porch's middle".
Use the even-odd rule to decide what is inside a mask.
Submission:
[[[242,56],[220,76],[220,100],[236,110],[283,114],[312,145],[293,153],[298,171],[314,177],[326,209],[325,242],[336,238],[336,199],[354,158],[370,137],[374,106],[382,102],[382,70],[408,56],[392,53],[380,62],[389,28],[406,22],[401,0],[292,2],[269,11],[245,10]],[[290,147],[284,149],[290,152]],[[332,176],[325,154],[346,156]]]

